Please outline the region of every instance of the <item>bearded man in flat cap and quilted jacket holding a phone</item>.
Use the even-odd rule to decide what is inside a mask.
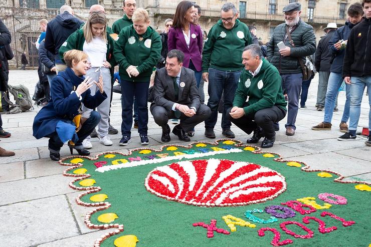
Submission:
[[[300,19],[301,5],[291,3],[283,8],[285,23],[278,25],[267,46],[267,59],[276,66],[281,78],[282,89],[288,96],[288,113],[286,135],[295,134],[295,121],[298,113],[299,95],[303,80],[299,59],[305,64],[305,56],[312,55],[316,50],[316,40],[313,27]],[[287,35],[290,33],[292,41]],[[285,48],[278,48],[277,44],[283,42]],[[282,47],[281,47],[282,48]]]

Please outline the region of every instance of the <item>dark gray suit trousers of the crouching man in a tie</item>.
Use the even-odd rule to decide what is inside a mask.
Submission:
[[[161,127],[166,126],[167,121],[169,119],[176,118],[174,115],[174,111],[166,110],[162,106],[156,106],[155,104],[152,104],[150,107],[150,111],[153,115],[154,122],[158,124]],[[187,117],[183,113],[180,115],[180,124],[179,126],[185,131],[191,131],[196,125],[199,123],[205,121],[211,116],[211,110],[206,105],[200,105],[199,109],[197,110],[196,114],[192,117]]]

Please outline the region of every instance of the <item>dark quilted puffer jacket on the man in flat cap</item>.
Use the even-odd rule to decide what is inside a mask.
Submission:
[[[267,46],[267,60],[276,66],[280,74],[301,73],[300,64],[297,60],[300,57],[305,64],[305,56],[312,55],[316,50],[316,38],[314,36],[313,27],[299,20],[297,27],[291,33],[295,48],[292,47],[287,38],[285,45],[291,48],[291,54],[288,57],[283,57],[278,52],[277,44],[284,41],[286,35],[286,24],[278,25],[274,31],[272,38]]]

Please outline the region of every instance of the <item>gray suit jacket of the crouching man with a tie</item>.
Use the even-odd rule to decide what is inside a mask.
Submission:
[[[185,86],[181,87],[180,83],[184,82]],[[171,111],[174,103],[195,107],[196,111],[200,107],[200,95],[197,88],[195,72],[188,68],[181,68],[179,80],[178,101],[175,101],[174,82],[167,74],[166,68],[161,68],[156,72],[153,86],[154,103],[157,106],[164,107]]]

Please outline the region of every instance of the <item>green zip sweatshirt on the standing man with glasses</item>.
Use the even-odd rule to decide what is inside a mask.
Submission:
[[[242,69],[242,50],[252,44],[250,31],[245,23],[236,20],[232,29],[226,29],[219,20],[209,31],[202,53],[202,72],[209,68],[223,71]]]

